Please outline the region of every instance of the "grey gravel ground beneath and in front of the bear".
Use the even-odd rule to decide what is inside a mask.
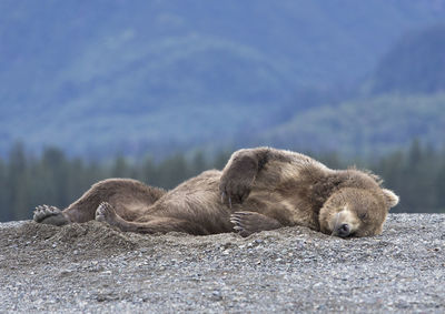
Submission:
[[[0,282],[1,313],[444,313],[445,214],[392,214],[383,235],[352,240],[2,223]]]

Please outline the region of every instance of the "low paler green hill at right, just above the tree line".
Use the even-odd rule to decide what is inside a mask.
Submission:
[[[413,139],[444,148],[444,107],[445,93],[355,99],[296,114],[256,143],[366,158],[406,148]]]

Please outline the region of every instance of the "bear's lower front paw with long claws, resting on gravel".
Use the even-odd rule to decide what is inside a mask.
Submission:
[[[230,215],[230,222],[241,236],[283,226],[277,220],[256,212],[235,212]]]

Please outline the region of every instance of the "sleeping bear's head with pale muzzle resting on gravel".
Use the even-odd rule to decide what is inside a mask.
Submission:
[[[397,205],[398,196],[393,191],[380,188],[374,178],[369,179],[375,184],[342,188],[327,199],[319,213],[323,233],[340,237],[382,233],[387,213]]]

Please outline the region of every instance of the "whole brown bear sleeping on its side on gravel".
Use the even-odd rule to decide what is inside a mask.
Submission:
[[[241,149],[222,169],[205,171],[171,191],[131,179],[91,186],[63,211],[38,206],[38,223],[90,220],[123,232],[194,235],[238,232],[241,236],[283,226],[306,226],[339,237],[382,233],[398,196],[369,171],[332,170],[301,153]]]

